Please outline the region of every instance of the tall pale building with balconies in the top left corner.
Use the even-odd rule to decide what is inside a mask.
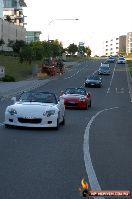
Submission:
[[[24,0],[3,0],[4,19],[10,16],[11,22],[15,25],[24,26],[23,7],[26,7]]]

